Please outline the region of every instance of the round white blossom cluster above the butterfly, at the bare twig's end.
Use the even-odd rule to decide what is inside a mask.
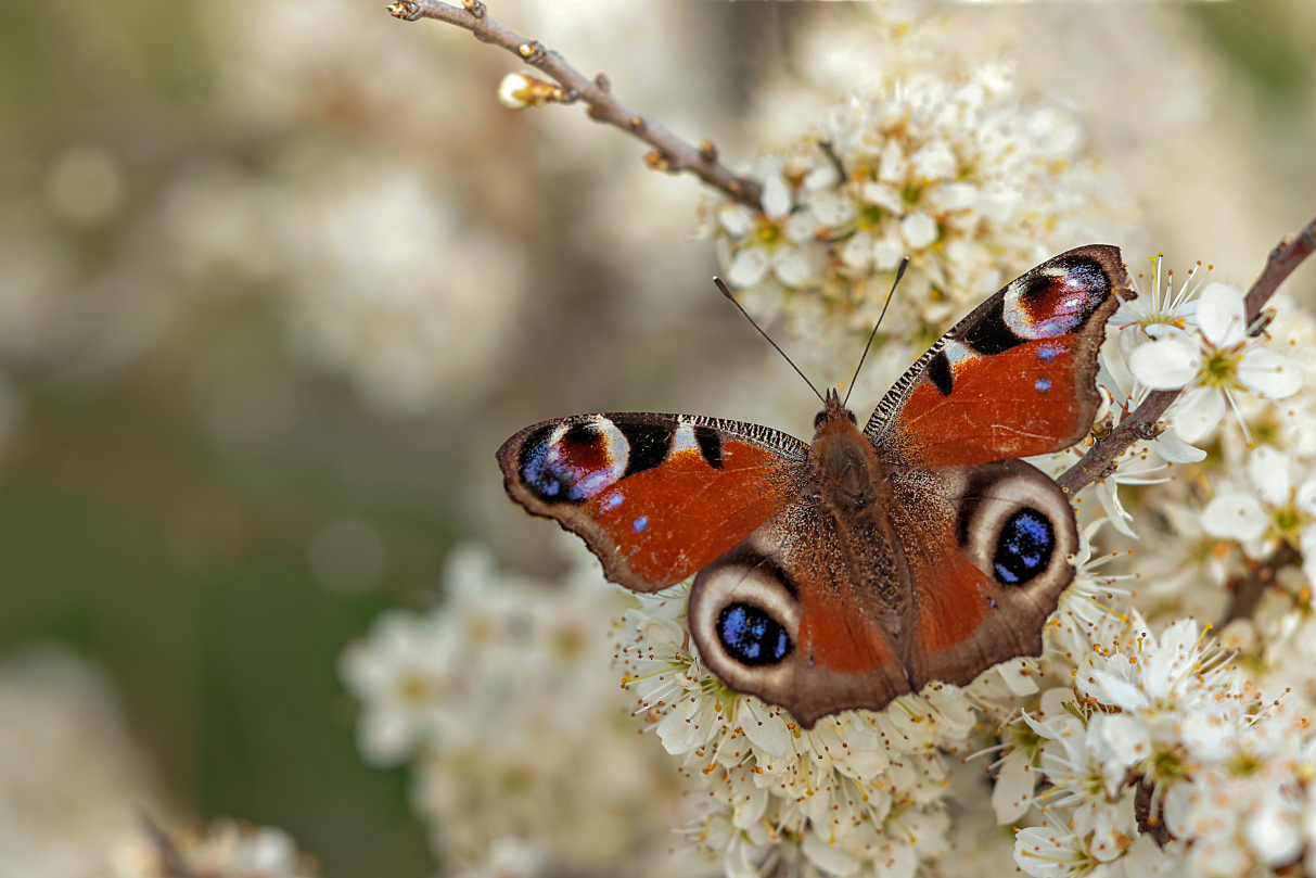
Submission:
[[[861,329],[908,257],[883,332],[944,329],[1115,215],[1082,141],[1073,120],[1011,97],[998,76],[896,79],[762,155],[762,209],[712,204],[711,232],[728,280],[751,299],[786,295],[801,309],[803,296]]]

